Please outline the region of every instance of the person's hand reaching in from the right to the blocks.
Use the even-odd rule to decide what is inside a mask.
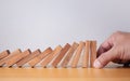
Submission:
[[[130,32],[116,31],[98,50],[95,68],[103,68],[109,62],[130,63]]]

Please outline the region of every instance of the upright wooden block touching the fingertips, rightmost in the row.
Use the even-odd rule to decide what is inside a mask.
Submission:
[[[96,41],[90,43],[90,67],[93,67],[93,63],[96,58]]]

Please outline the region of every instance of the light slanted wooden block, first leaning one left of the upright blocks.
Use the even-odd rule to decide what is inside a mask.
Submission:
[[[75,56],[73,58],[73,62],[72,62],[72,67],[73,68],[77,67],[77,64],[78,64],[78,60],[80,58],[80,54],[82,52],[83,46],[84,46],[84,42],[80,41],[79,46],[77,49],[77,52],[76,52],[76,54],[75,54]]]

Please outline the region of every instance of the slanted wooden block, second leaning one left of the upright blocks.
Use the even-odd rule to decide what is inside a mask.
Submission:
[[[68,50],[66,57],[64,58],[64,60],[61,64],[61,67],[67,67],[67,64],[69,63],[74,52],[76,51],[76,49],[78,48],[78,43],[74,42],[72,48]]]

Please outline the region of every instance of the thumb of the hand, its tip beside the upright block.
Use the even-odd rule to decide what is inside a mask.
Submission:
[[[114,48],[112,48],[109,51],[101,54],[95,60],[94,60],[94,67],[95,68],[103,68],[105,65],[107,65],[109,62],[116,58],[116,51]]]

